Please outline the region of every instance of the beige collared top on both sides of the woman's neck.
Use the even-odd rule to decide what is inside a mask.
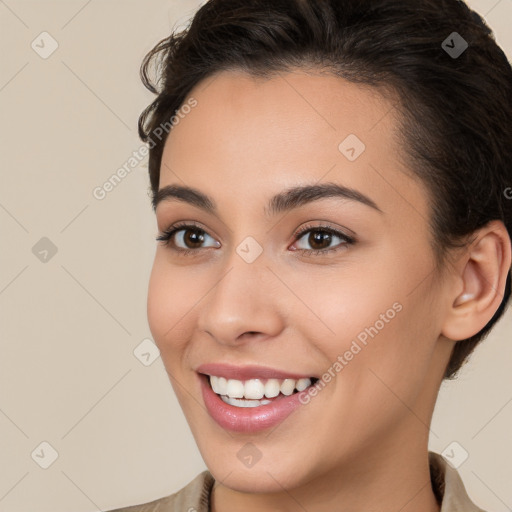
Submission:
[[[485,512],[469,499],[459,473],[438,453],[428,453],[432,488],[441,506],[440,512]],[[108,512],[210,512],[210,491],[214,482],[212,474],[205,470],[170,496]]]

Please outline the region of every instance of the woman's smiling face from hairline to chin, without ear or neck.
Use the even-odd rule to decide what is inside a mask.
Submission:
[[[452,348],[440,337],[449,297],[392,104],[300,71],[266,81],[222,72],[190,96],[197,104],[166,141],[159,188],[193,188],[211,208],[190,194],[158,203],[159,234],[193,226],[158,242],[148,320],[210,471],[233,489],[272,492],[426,448]],[[356,193],[272,201],[327,184]],[[318,391],[250,408],[208,391],[205,402],[198,368],[209,363],[316,377]],[[257,391],[270,374],[253,373],[238,380],[260,377]]]

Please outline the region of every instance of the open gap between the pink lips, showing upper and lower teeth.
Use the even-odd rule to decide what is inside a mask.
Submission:
[[[220,399],[234,407],[259,407],[314,386],[318,378],[301,379],[226,379],[202,374]]]

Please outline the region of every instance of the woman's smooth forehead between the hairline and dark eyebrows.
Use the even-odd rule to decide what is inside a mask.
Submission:
[[[426,220],[425,190],[398,158],[397,111],[376,89],[304,70],[264,79],[223,71],[188,97],[197,104],[167,138],[160,188],[184,182],[220,203],[236,194],[247,208],[283,188],[334,181]]]

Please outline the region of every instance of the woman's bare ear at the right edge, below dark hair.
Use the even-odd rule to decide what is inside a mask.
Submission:
[[[456,265],[449,311],[441,334],[458,341],[478,333],[501,304],[511,265],[511,241],[501,221],[478,232]]]

